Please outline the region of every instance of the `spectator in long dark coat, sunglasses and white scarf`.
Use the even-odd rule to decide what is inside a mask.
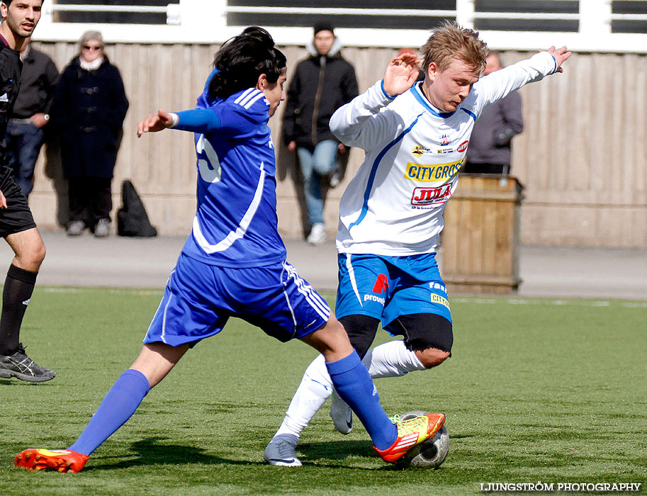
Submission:
[[[103,55],[101,33],[84,33],[81,55],[63,70],[52,104],[69,187],[70,236],[85,227],[96,237],[110,232],[111,183],[126,111],[123,81]]]

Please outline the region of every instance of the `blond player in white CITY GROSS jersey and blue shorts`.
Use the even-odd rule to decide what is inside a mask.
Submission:
[[[381,81],[330,119],[344,145],[366,152],[339,207],[335,311],[371,378],[432,368],[451,355],[451,313],[435,251],[474,122],[524,84],[563,72],[570,57],[566,47],[551,47],[479,79],[487,54],[476,31],[445,23],[422,47],[424,81],[415,83],[415,55],[395,57]],[[369,351],[380,321],[404,339]],[[300,465],[298,436],[332,390],[318,356],[266,447],[269,463]],[[351,411],[336,396],[330,415],[339,432],[350,432]]]

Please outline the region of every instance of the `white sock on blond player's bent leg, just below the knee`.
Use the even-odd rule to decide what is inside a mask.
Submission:
[[[406,348],[402,339],[369,349],[361,362],[373,379],[400,377],[413,371],[427,370],[415,353]]]

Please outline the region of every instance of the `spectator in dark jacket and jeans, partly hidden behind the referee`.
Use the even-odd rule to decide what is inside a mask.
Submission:
[[[45,125],[50,120],[50,105],[58,80],[58,69],[48,55],[23,43],[21,91],[13,105],[7,125],[6,147],[9,165],[23,195],[33,188],[34,167],[43,145]]]

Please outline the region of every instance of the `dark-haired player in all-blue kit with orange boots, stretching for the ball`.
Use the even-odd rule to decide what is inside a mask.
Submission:
[[[195,109],[161,109],[137,135],[165,128],[195,133],[198,209],[193,230],[135,362],[108,391],[68,449],[28,449],[28,470],[78,472],[192,346],[240,317],[283,342],[296,338],[325,357],[339,395],[361,419],[378,454],[398,461],[433,436],[444,415],[400,422],[383,411],[368,371],[323,298],[286,261],[277,232],[276,163],[267,121],[285,98],[286,58],[269,33],[247,28],[215,55]]]

